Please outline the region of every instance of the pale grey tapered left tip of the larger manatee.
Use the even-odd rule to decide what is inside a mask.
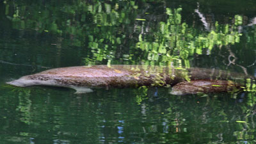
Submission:
[[[24,76],[24,77],[20,77],[15,81],[7,82],[7,84],[11,84],[13,86],[25,87],[25,86],[35,85],[35,81],[33,79],[30,79],[28,76]]]

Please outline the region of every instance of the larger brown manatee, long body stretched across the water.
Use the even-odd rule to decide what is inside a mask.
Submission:
[[[138,86],[173,86],[198,79],[244,79],[243,74],[205,68],[174,68],[143,65],[95,65],[64,67],[45,70],[37,74],[20,77],[8,84],[15,86],[61,86],[74,88],[77,93],[91,92],[88,88],[126,88]]]

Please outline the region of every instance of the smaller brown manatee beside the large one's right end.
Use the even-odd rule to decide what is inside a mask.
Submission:
[[[172,87],[172,95],[188,95],[196,93],[234,92],[240,89],[239,84],[223,80],[184,81]]]

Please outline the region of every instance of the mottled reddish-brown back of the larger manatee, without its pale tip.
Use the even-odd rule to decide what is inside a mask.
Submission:
[[[166,82],[173,82],[170,77],[172,74],[168,74],[167,71],[168,68],[159,66],[111,65],[108,67],[107,65],[95,65],[91,67],[54,68],[31,75],[31,78],[54,79],[60,85],[137,87],[159,83],[164,85]]]

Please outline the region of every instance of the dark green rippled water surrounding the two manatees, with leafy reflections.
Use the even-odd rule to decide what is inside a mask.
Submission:
[[[1,1],[0,143],[256,143],[248,92],[5,84],[49,68],[175,65],[256,74],[256,2]],[[255,20],[255,21],[253,21]]]

